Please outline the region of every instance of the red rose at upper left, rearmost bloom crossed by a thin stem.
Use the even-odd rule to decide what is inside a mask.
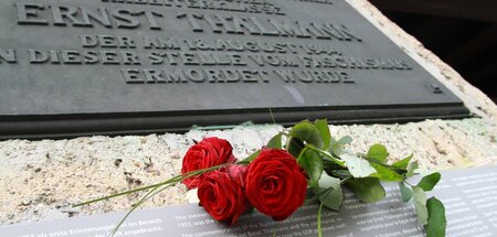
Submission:
[[[193,144],[184,154],[181,174],[186,174],[195,170],[212,168],[219,164],[234,162],[233,148],[230,142],[220,138],[205,138]],[[183,180],[183,184],[188,188],[195,188],[203,179],[202,175]]]

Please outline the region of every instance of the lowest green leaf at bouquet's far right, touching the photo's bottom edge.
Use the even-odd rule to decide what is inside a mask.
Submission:
[[[426,237],[444,237],[447,226],[444,204],[437,198],[431,197],[426,202],[426,207],[429,211],[427,224],[424,226]]]

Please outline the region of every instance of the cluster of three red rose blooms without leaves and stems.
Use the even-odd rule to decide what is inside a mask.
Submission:
[[[205,138],[183,158],[181,173],[225,164],[183,180],[198,187],[200,204],[216,220],[236,223],[253,206],[275,220],[283,220],[304,204],[307,174],[286,150],[263,148],[255,159],[236,163],[230,142]]]

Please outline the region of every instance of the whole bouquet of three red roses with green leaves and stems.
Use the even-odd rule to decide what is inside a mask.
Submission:
[[[353,154],[346,150],[351,141],[348,136],[334,139],[326,119],[302,121],[277,133],[265,147],[243,160],[234,158],[226,140],[205,138],[187,151],[180,175],[78,205],[148,191],[133,212],[161,190],[183,183],[189,190],[198,188],[200,205],[214,219],[232,225],[251,208],[274,220],[284,220],[304,204],[310,190],[320,203],[317,228],[321,236],[321,209],[340,209],[343,186],[360,201],[372,203],[385,196],[381,182],[391,181],[399,183],[404,202],[413,201],[426,235],[445,236],[445,208],[437,198],[426,198],[425,194],[433,190],[441,174],[432,173],[417,184],[410,184],[406,179],[417,169],[417,162],[411,162],[412,155],[389,164],[389,153],[383,146],[373,144],[367,153]]]

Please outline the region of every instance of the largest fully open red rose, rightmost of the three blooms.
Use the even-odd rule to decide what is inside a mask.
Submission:
[[[307,180],[287,151],[267,149],[248,164],[245,193],[258,212],[283,220],[304,204]]]

